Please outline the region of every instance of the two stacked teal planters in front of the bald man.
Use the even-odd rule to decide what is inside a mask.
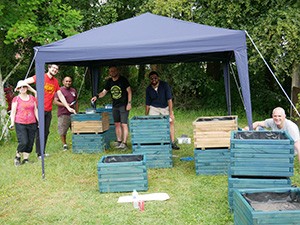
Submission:
[[[231,133],[228,201],[234,189],[290,187],[294,173],[294,141],[284,131],[235,131]]]

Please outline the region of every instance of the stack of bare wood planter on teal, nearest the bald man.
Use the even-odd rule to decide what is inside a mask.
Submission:
[[[196,174],[227,174],[230,133],[238,129],[237,116],[199,117],[193,127]]]

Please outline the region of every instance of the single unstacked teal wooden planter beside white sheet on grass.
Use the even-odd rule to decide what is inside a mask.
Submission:
[[[132,192],[148,190],[144,155],[108,155],[98,162],[100,192]]]

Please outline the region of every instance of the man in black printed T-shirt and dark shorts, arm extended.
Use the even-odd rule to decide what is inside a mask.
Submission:
[[[128,80],[119,74],[116,66],[109,67],[110,78],[102,92],[94,96],[91,102],[102,98],[110,91],[112,98],[112,113],[117,136],[116,147],[127,149],[128,139],[128,116],[131,109],[132,92]]]

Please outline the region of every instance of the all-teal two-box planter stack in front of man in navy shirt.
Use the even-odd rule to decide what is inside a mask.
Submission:
[[[135,116],[130,120],[134,154],[144,154],[148,168],[173,167],[169,116]]]

